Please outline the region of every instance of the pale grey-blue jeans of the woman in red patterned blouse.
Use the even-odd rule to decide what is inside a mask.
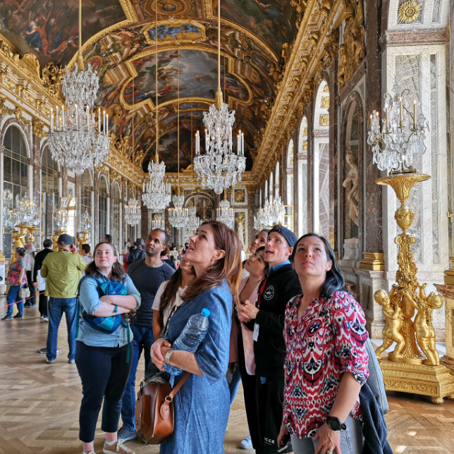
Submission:
[[[360,454],[362,453],[362,423],[354,419],[351,415],[345,420],[347,429],[340,431],[340,450],[342,454]],[[314,438],[296,438],[292,439],[292,448],[295,454],[314,454],[319,444]],[[334,450],[333,454],[337,451]]]

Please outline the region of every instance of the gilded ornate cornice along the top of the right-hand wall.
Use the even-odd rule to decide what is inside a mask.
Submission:
[[[355,1],[355,0],[346,0]],[[266,128],[261,133],[261,142],[254,160],[252,173],[257,178],[257,185],[263,183],[268,175],[267,171],[276,164],[276,142],[285,135],[287,125],[292,119],[295,109],[299,109],[300,101],[304,106],[312,101],[314,94],[314,78],[326,65],[326,59],[335,58],[333,42],[336,35],[329,36],[338,12],[344,8],[343,0],[322,1],[307,0],[305,14],[300,23],[295,42],[288,57],[285,73],[278,85],[276,101],[271,107],[271,114],[266,123]],[[314,29],[317,23],[317,29]],[[337,25],[338,21],[336,21]],[[338,26],[338,25],[337,25]],[[337,28],[337,27],[336,27]],[[317,36],[317,39],[316,39]],[[300,77],[300,82],[295,85],[294,76]]]

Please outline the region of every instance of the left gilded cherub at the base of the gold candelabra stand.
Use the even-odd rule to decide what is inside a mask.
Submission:
[[[393,342],[397,343],[394,351],[389,355],[390,359],[402,358],[402,350],[405,347],[405,338],[400,330],[402,329],[403,314],[399,306],[393,307],[391,300],[395,293],[396,286],[393,286],[389,295],[384,290],[377,290],[374,294],[374,299],[383,307],[383,315],[386,323],[383,329],[383,344],[375,350],[376,357],[381,360],[381,353],[390,347]]]

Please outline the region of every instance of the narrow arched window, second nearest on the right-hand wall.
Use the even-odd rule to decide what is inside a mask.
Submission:
[[[297,237],[309,231],[309,212],[307,211],[307,117],[303,116],[298,134],[298,153],[297,153],[297,190],[295,213]]]

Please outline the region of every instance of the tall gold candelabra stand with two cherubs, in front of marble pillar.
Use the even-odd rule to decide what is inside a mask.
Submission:
[[[427,284],[420,285],[417,281],[411,250],[416,238],[407,233],[415,213],[405,207],[415,183],[429,178],[429,175],[404,173],[376,180],[379,185],[391,186],[400,200],[394,219],[402,229],[395,238],[398,245],[396,283],[389,294],[377,290],[374,295],[376,302],[383,306],[386,320],[384,343],[376,349],[376,355],[381,362],[386,389],[429,395],[434,403],[442,403],[443,397],[454,398],[454,377],[440,365],[432,325],[432,311],[443,305],[443,298],[435,292],[427,296],[424,290]],[[385,358],[384,350],[393,343],[396,343],[395,349]]]

